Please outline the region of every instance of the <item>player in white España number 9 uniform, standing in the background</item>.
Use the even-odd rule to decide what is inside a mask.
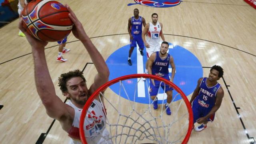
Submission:
[[[163,41],[165,41],[164,34],[162,32],[163,24],[158,22],[158,14],[154,13],[151,15],[152,22],[146,24],[143,32],[142,32],[142,40],[144,45],[146,46],[146,52],[148,58],[150,58],[151,54],[154,52],[160,51],[160,37]],[[145,40],[146,36],[146,40]],[[160,37],[159,37],[160,36]],[[148,73],[148,61],[146,62],[145,73]],[[145,80],[145,79],[143,79]]]

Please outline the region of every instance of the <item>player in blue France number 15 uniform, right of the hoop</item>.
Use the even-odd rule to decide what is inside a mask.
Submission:
[[[208,121],[213,121],[215,112],[220,108],[224,91],[217,82],[223,76],[220,66],[212,66],[208,78],[199,78],[196,89],[190,100],[193,110],[194,123],[201,124],[196,131],[207,128]]]

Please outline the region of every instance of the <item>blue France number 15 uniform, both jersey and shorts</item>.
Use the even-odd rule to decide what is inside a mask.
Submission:
[[[215,86],[208,87],[206,84],[207,78],[203,78],[200,83],[200,91],[198,96],[194,99],[192,103],[194,123],[198,118],[202,118],[209,114],[212,108],[215,106],[216,93],[220,89],[220,84],[217,83]],[[215,114],[213,114],[208,121],[214,120]]]

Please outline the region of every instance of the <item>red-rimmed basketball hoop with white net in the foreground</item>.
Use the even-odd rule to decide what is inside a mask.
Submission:
[[[107,95],[104,96],[104,94],[102,94],[108,87],[114,84],[119,84],[120,91],[123,91],[123,93],[127,95],[127,90],[125,89],[123,82],[135,79],[138,84],[138,82],[143,82],[142,78],[146,78],[147,88],[150,79],[154,79],[171,86],[174,89],[173,91],[178,93],[175,96],[173,95],[170,104],[172,115],[167,116],[165,114],[165,108],[163,108],[164,101],[162,101],[162,106],[160,106],[158,110],[152,110],[152,100],[149,98],[149,92],[149,104],[136,103],[136,88],[134,88],[134,100],[130,100],[128,96],[128,100],[120,98],[121,92],[118,94],[119,98],[114,96],[114,94],[112,94],[112,97],[110,98]],[[160,90],[158,90],[158,93],[159,91]],[[158,76],[132,74],[121,76],[107,82],[98,88],[87,100],[82,110],[79,125],[80,139],[83,144],[87,144],[84,132],[85,117],[86,114],[90,113],[87,112],[87,110],[99,94],[101,95],[100,103],[103,106],[102,99],[104,99],[106,109],[108,110],[105,129],[108,130],[109,137],[106,139],[112,141],[112,143],[145,143],[145,141],[147,141],[149,143],[186,144],[188,142],[193,126],[193,114],[190,102],[182,90],[172,82]],[[176,99],[178,95],[180,95],[182,100],[174,102],[174,99]],[[114,102],[111,102],[113,99]],[[102,136],[102,133],[99,132],[99,135]]]

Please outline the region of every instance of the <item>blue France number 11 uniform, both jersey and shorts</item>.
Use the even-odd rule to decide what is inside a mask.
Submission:
[[[131,20],[131,34],[133,39],[130,39],[130,47],[136,47],[136,42],[140,47],[140,50],[144,49],[144,42],[142,40],[142,17],[140,16],[138,20],[132,16]]]

